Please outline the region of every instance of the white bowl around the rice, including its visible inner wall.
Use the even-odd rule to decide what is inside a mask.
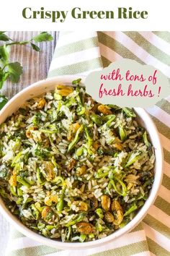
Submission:
[[[29,87],[22,90],[20,93],[17,93],[7,104],[4,106],[4,108],[0,111],[0,124],[6,120],[8,116],[11,116],[17,109],[22,106],[22,104],[29,100],[30,98],[33,98],[37,95],[41,95],[42,93],[48,92],[49,90],[53,90],[55,88],[55,85],[57,84],[64,84],[64,85],[70,85],[72,80],[74,80],[75,77],[73,76],[64,76],[64,77],[55,77],[53,79],[47,79],[42,80],[39,82],[35,82],[34,84],[30,85]],[[82,82],[84,82],[84,79],[82,79]],[[30,237],[31,239],[34,239],[37,242],[40,242],[42,244],[46,244],[51,247],[59,248],[59,249],[87,249],[92,247],[98,247],[100,245],[104,245],[107,242],[112,241],[113,239],[116,239],[119,236],[122,236],[123,234],[129,232],[131,229],[133,229],[143,218],[146,216],[146,213],[148,212],[148,209],[153,204],[154,200],[156,199],[156,195],[158,194],[158,189],[161,185],[161,179],[162,179],[162,163],[163,163],[163,152],[161,148],[161,142],[158,137],[158,131],[155,127],[155,124],[153,124],[153,121],[151,120],[151,117],[148,116],[146,111],[143,108],[135,108],[136,114],[138,114],[138,121],[140,124],[146,128],[148,131],[148,134],[150,136],[150,140],[153,144],[153,147],[155,149],[156,154],[156,163],[155,163],[155,177],[153,182],[153,187],[151,189],[150,195],[148,199],[146,200],[143,207],[139,210],[138,214],[133,218],[130,223],[128,223],[125,227],[122,229],[119,229],[115,231],[115,233],[110,234],[107,237],[104,237],[102,239],[98,239],[96,241],[92,242],[58,242],[52,239],[45,238],[44,236],[40,234],[36,234],[32,230],[28,229],[26,226],[24,226],[16,217],[12,215],[12,213],[9,212],[9,210],[6,208],[3,200],[0,198],[0,210],[1,213],[6,217],[6,219],[16,228],[18,231],[22,232],[25,236]]]

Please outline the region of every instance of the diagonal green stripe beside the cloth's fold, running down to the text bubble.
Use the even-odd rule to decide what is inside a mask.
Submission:
[[[113,51],[115,51],[117,54],[119,54],[123,58],[134,59],[135,61],[138,61],[140,64],[144,64],[144,62],[141,61],[141,59],[139,59],[137,56],[135,56],[135,54],[133,54],[132,51],[129,51],[128,48],[123,46],[120,42],[118,42],[114,38],[111,38],[109,35],[106,35],[101,31],[99,31],[98,39],[99,39],[99,43],[103,43],[104,46],[111,48]]]

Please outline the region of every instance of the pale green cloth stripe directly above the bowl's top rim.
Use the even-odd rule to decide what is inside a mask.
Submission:
[[[52,70],[48,73],[48,77],[55,77],[57,75],[65,74],[78,74],[81,72],[86,72],[91,69],[97,69],[102,67],[101,58],[91,59],[90,61],[81,61],[76,64],[71,64],[68,66],[60,67],[58,69]]]

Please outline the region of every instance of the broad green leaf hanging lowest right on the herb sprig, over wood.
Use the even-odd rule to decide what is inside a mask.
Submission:
[[[19,62],[12,62],[8,64],[9,78],[12,82],[18,82],[22,74],[22,66]]]

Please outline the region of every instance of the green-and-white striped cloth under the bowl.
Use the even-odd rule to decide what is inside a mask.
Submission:
[[[80,77],[107,67],[121,58],[150,64],[170,78],[170,33],[168,32],[68,32],[61,33],[49,77],[75,74]],[[164,147],[164,177],[156,202],[148,215],[129,234],[107,246],[69,251],[46,247],[13,231],[6,255],[35,256],[168,256],[170,255],[170,96],[147,108]]]

